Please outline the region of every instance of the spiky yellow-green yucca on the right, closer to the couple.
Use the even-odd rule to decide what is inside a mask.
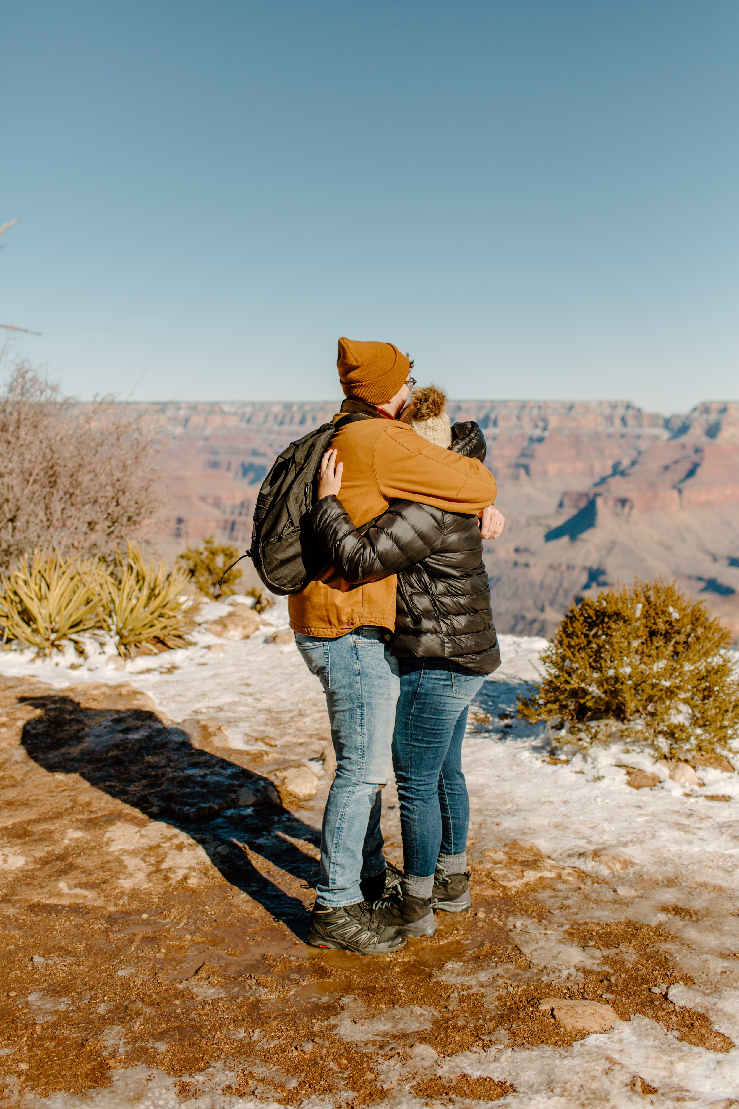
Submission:
[[[105,628],[117,641],[119,654],[130,658],[134,649],[152,653],[187,647],[195,606],[184,596],[185,571],[167,569],[165,562],[146,562],[134,543],[127,556],[116,552],[116,562],[102,580],[101,612]]]

